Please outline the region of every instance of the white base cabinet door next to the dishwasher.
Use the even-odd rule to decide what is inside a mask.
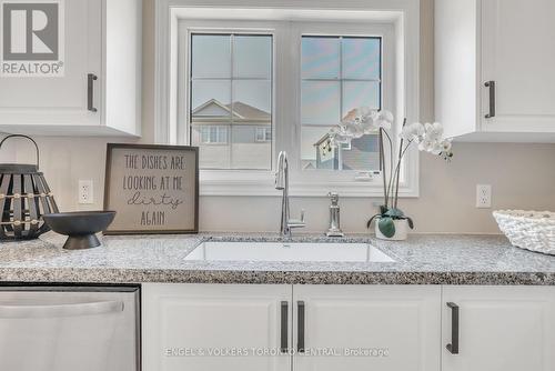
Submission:
[[[281,352],[291,285],[144,284],[142,293],[144,371],[291,371]]]

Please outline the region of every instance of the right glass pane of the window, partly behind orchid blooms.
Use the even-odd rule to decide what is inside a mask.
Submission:
[[[332,150],[329,132],[354,108],[381,109],[382,39],[303,36],[301,53],[303,169],[377,170],[376,136]]]

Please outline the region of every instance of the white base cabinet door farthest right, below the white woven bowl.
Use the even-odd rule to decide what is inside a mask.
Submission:
[[[555,288],[445,287],[443,371],[555,370]],[[458,305],[458,354],[446,344]]]

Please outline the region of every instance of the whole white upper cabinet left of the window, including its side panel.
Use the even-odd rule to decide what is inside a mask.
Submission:
[[[1,2],[10,24],[0,131],[140,136],[141,9],[140,0]]]

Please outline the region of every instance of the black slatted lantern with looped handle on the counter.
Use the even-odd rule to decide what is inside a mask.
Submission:
[[[49,231],[43,214],[58,213],[52,192],[42,172],[39,172],[39,147],[27,136],[37,149],[37,164],[0,163],[0,240],[30,240]]]

